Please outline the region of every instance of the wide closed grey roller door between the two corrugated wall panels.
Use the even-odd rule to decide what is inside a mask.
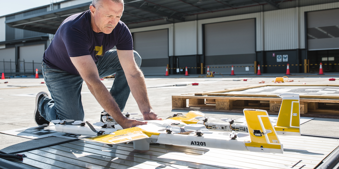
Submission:
[[[212,23],[205,25],[206,66],[253,66],[255,54],[255,19]],[[234,68],[238,73],[253,73],[251,68]],[[231,68],[213,71],[230,73]]]

